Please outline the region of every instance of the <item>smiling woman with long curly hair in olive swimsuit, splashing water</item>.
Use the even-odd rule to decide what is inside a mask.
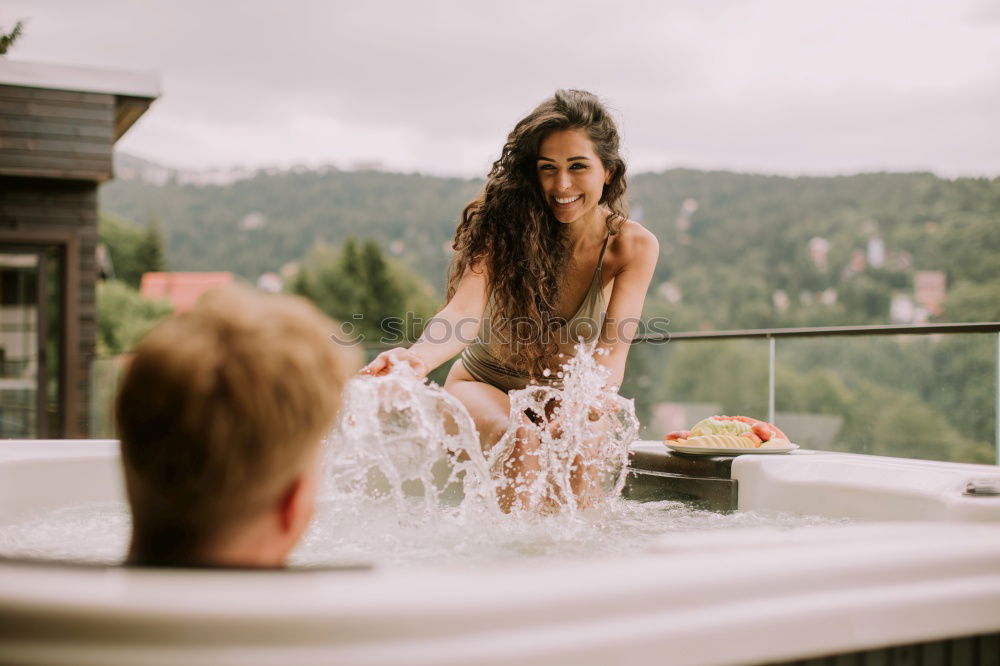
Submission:
[[[405,361],[426,375],[462,352],[445,389],[487,450],[511,425],[508,392],[557,383],[560,354],[572,355],[579,337],[607,352],[597,360],[609,386],[620,385],[659,246],[627,218],[618,143],[607,110],[584,91],[560,90],[521,120],[462,214],[447,305],[412,347],[379,354],[363,372]],[[504,456],[505,510],[529,502],[524,487],[538,473],[528,430]],[[584,503],[598,491],[585,464],[572,482]]]

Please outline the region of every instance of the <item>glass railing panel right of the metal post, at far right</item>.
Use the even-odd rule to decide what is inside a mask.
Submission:
[[[778,339],[776,424],[810,449],[995,463],[996,340]]]

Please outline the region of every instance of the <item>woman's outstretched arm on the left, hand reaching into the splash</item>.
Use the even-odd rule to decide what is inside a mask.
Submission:
[[[427,322],[420,338],[407,349],[384,351],[361,372],[383,375],[392,365],[406,361],[426,375],[472,343],[479,333],[479,322],[486,309],[486,272],[471,267],[459,280],[448,304]]]

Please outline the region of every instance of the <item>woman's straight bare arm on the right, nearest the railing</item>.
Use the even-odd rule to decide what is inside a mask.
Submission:
[[[608,314],[598,344],[599,348],[609,353],[597,356],[597,362],[611,370],[608,384],[615,386],[621,386],[625,377],[625,360],[632,338],[639,329],[642,304],[660,256],[660,243],[651,231],[635,224],[630,232],[622,238],[624,262],[615,274]]]

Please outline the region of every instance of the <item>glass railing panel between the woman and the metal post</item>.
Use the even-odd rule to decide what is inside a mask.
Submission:
[[[621,394],[635,400],[642,439],[660,440],[713,414],[767,418],[764,339],[641,342],[632,346]]]

